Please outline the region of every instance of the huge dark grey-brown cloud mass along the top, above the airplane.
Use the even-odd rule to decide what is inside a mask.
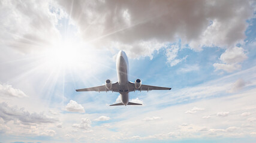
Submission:
[[[164,43],[176,38],[195,51],[203,46],[233,46],[245,38],[245,21],[253,13],[248,1],[136,1],[136,4],[58,1],[58,4],[70,14],[85,41],[108,48],[118,43],[120,46],[115,48],[125,49],[131,57],[152,57]]]

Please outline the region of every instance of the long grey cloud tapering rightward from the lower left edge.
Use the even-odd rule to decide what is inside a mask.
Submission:
[[[5,122],[13,120],[14,122],[21,122],[22,124],[42,124],[42,123],[55,123],[58,121],[52,117],[47,117],[43,113],[29,113],[24,108],[9,107],[7,103],[0,103],[0,117]]]

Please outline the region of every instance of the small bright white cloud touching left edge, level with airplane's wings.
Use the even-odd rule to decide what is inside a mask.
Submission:
[[[23,91],[20,89],[13,88],[11,85],[0,84],[0,96],[7,96],[7,97],[28,97],[28,95],[24,94]]]

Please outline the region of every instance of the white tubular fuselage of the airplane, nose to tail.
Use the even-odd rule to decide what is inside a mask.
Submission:
[[[116,57],[116,71],[118,73],[119,93],[121,95],[121,101],[124,103],[124,105],[127,105],[129,102],[129,63],[127,55],[124,51],[119,51],[118,56]]]

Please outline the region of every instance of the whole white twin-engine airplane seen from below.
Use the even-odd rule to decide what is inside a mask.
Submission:
[[[77,92],[80,91],[112,91],[119,92],[121,95],[121,101],[117,104],[112,104],[110,106],[116,105],[142,105],[134,102],[129,102],[129,92],[132,91],[152,91],[152,90],[171,90],[171,88],[164,88],[159,86],[150,86],[150,85],[142,85],[140,79],[136,79],[134,83],[129,82],[129,63],[127,55],[124,51],[119,51],[116,57],[116,71],[118,73],[118,82],[112,83],[110,79],[107,79],[105,85],[95,86],[92,88],[83,88],[76,89]]]

